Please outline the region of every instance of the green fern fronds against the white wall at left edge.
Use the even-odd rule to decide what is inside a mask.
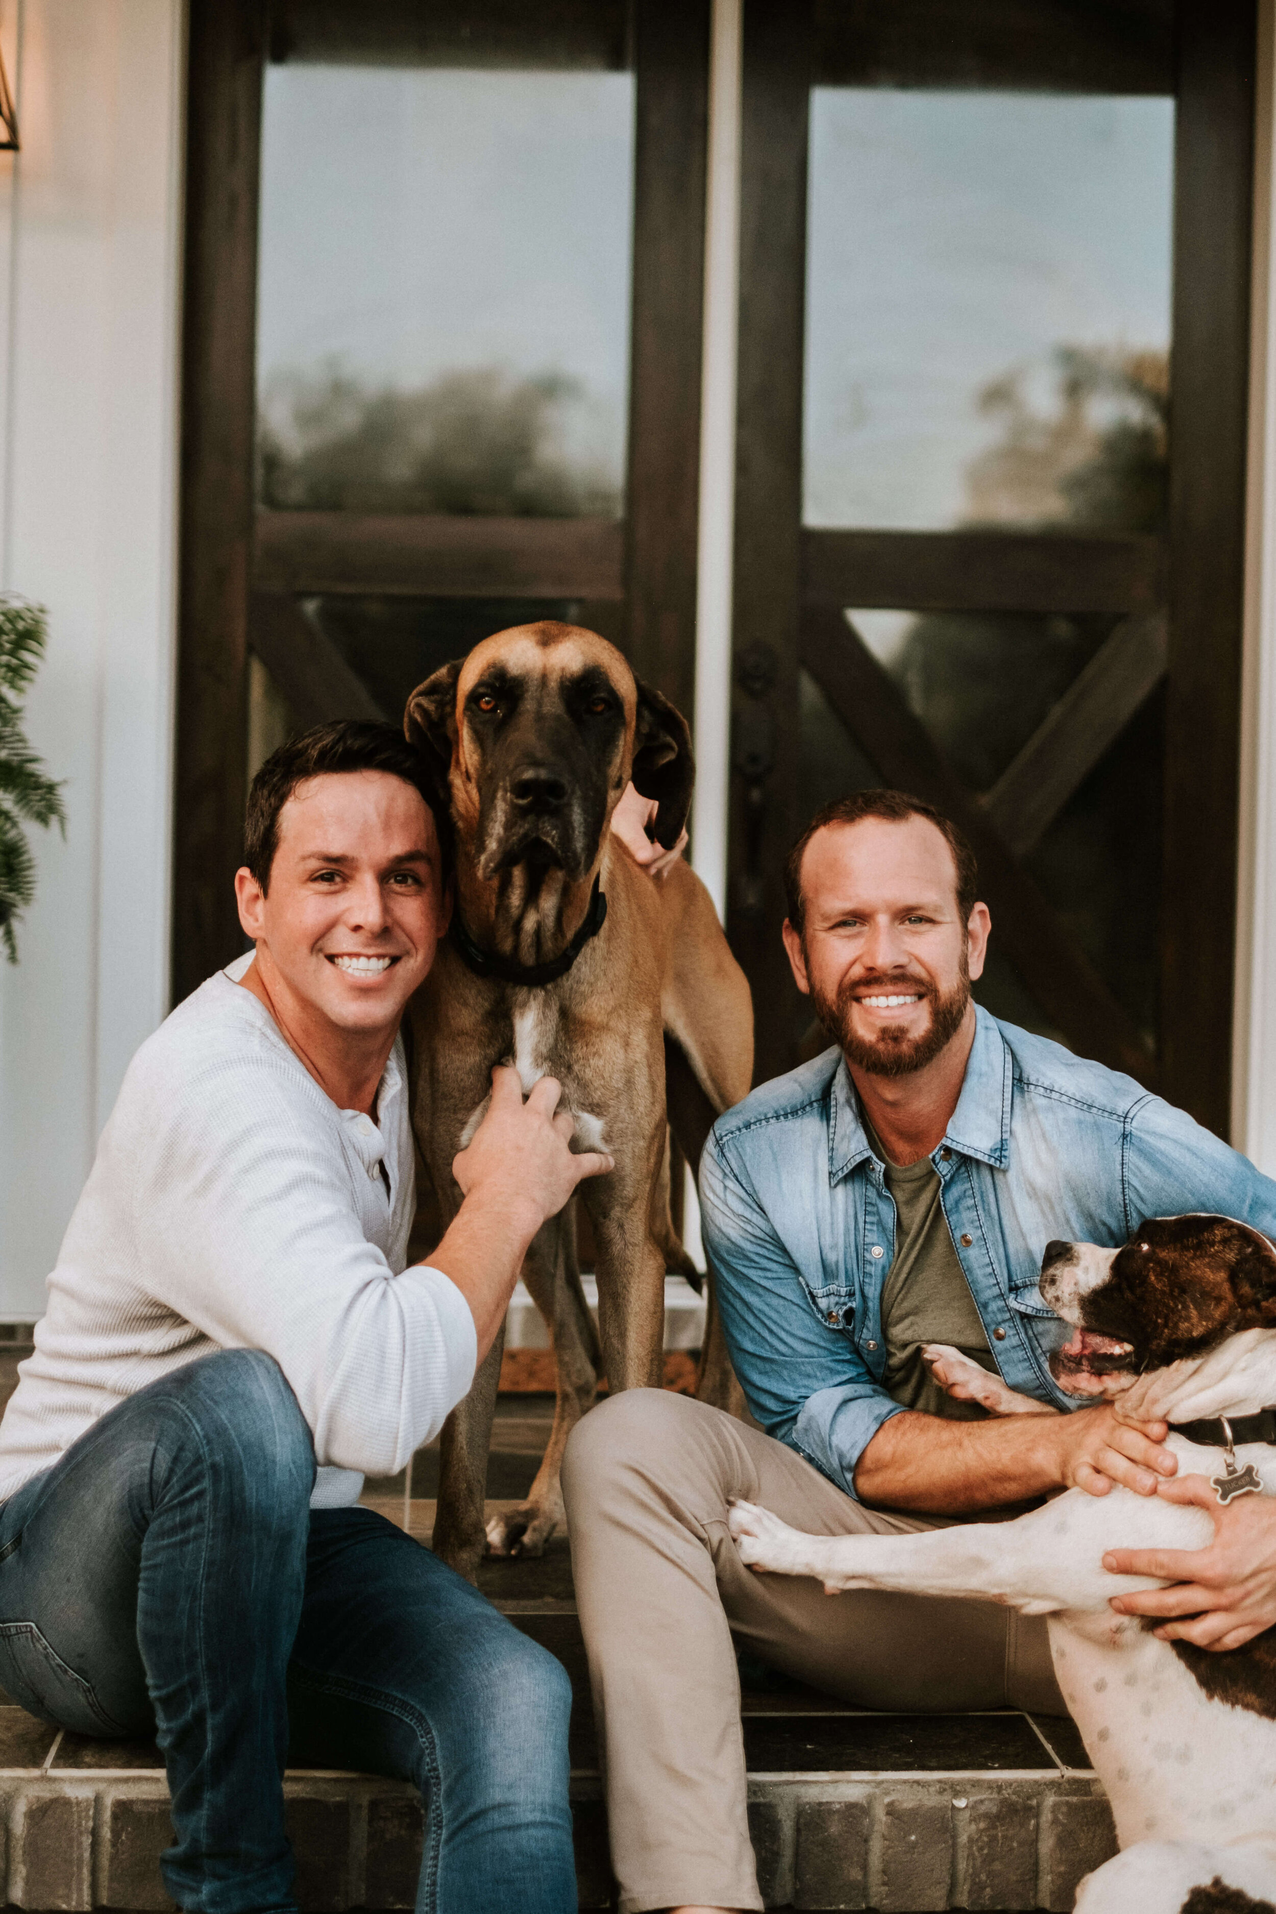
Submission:
[[[67,835],[61,785],[44,769],[23,733],[25,699],[44,657],[42,605],[0,597],[0,938],[17,963],[13,923],[36,894],[36,867],[23,823],[57,823]]]

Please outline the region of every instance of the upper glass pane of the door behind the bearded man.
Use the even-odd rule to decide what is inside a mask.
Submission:
[[[811,90],[803,523],[1161,530],[1175,103]]]

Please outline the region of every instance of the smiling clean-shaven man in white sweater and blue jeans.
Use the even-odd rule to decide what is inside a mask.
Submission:
[[[358,1506],[465,1395],[528,1242],[601,1154],[494,1072],[465,1202],[404,1267],[398,1026],[450,892],[415,752],[325,725],[253,783],[254,953],[142,1045],[0,1424],[0,1684],[157,1732],[199,1914],[289,1910],[289,1753],[421,1786],[421,1914],[576,1906],[561,1665]]]

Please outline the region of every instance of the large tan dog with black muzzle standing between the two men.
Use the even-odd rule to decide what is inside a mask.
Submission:
[[[557,1359],[555,1424],[528,1501],[484,1531],[484,1478],[501,1369],[497,1338],[448,1418],[434,1548],[463,1573],[484,1545],[538,1554],[562,1520],[562,1445],[610,1390],[660,1386],[666,1269],[691,1269],[670,1221],[666,1032],[714,1114],[752,1074],[752,1007],[708,892],[685,863],[652,880],[608,831],[631,779],[658,800],[673,846],[691,806],[687,723],[595,632],[497,632],[409,699],[407,737],[434,766],[451,817],[455,913],[409,1009],[417,1227],[429,1248],[459,1204],[451,1160],[486,1108],[492,1066],[524,1095],[562,1083],[583,1148],[616,1168],[580,1187],[597,1246],[599,1336],[576,1263],[574,1204],[547,1223],[524,1280]],[[693,1085],[694,1089],[694,1085]],[[733,1386],[710,1305],[700,1393]]]

